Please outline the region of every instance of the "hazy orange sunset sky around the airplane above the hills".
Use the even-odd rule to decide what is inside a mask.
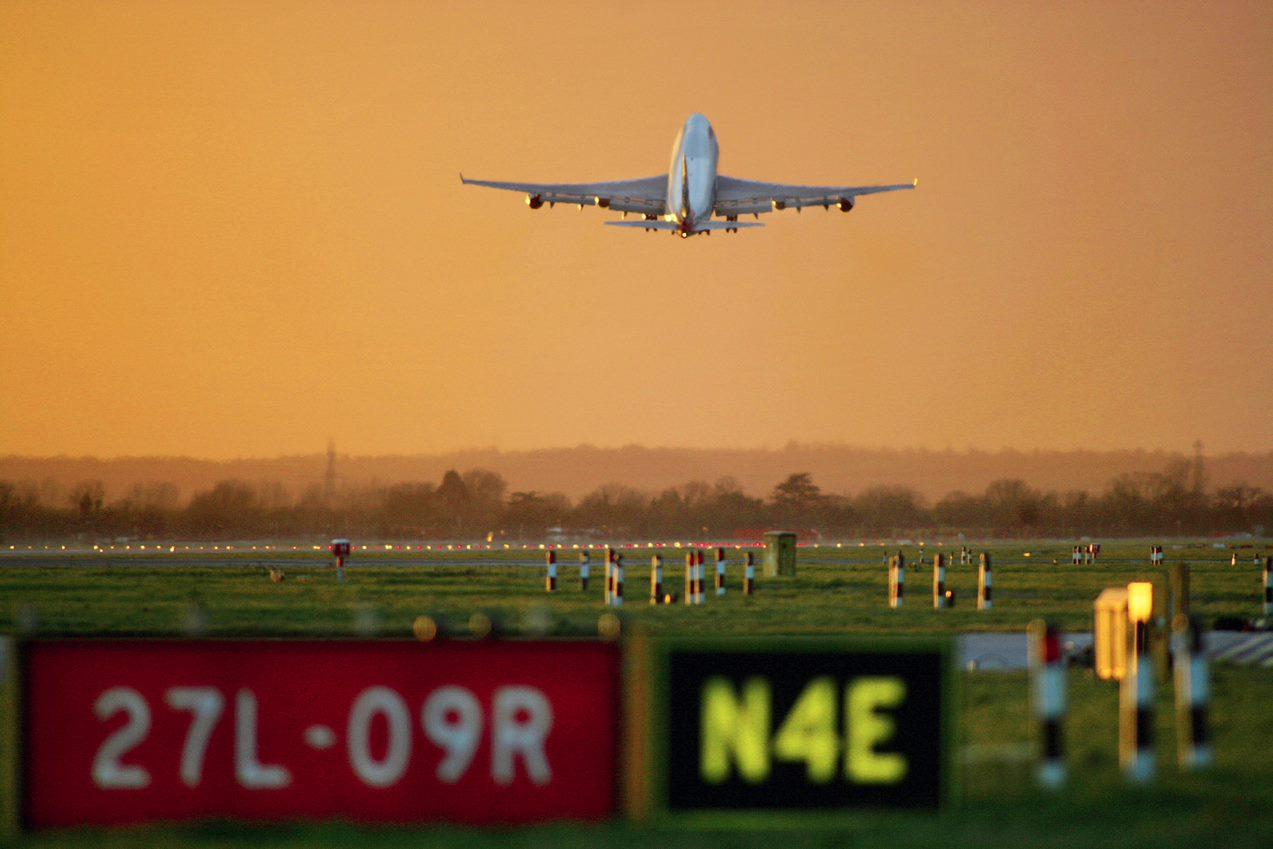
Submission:
[[[920,179],[681,241],[468,177]],[[1273,447],[1268,3],[0,4],[0,454]]]

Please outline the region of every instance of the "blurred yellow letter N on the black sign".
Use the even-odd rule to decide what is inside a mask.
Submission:
[[[703,685],[701,747],[699,771],[710,784],[729,778],[731,755],[745,782],[769,778],[769,682],[749,678],[737,698],[733,685],[722,677]]]

